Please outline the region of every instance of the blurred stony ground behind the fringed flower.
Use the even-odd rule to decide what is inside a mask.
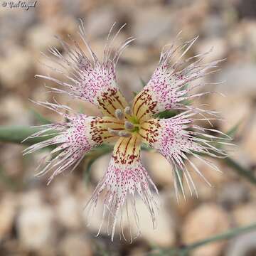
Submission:
[[[105,38],[114,21],[127,23],[117,38],[134,36],[119,60],[117,79],[122,91],[132,100],[133,91],[142,89],[141,79],[149,80],[159,60],[162,46],[171,43],[179,31],[183,40],[199,35],[188,55],[209,50],[206,62],[227,58],[221,70],[209,76],[221,85],[204,90],[223,92],[226,97],[209,95],[200,99],[220,111],[225,122],[214,127],[227,132],[238,124],[230,155],[252,174],[256,167],[256,2],[255,0],[149,0],[37,1],[28,11],[3,6],[0,1],[0,123],[31,126],[43,117],[56,122],[53,112],[37,107],[33,100],[51,101],[43,80],[35,74],[53,75],[42,65],[50,46],[61,52],[55,39],[78,38],[78,18],[82,18],[88,41],[102,56]],[[78,38],[78,41],[80,39]],[[54,63],[53,63],[54,65]],[[60,78],[60,75],[56,75]],[[50,82],[47,82],[50,85]],[[87,114],[98,114],[92,105],[55,95],[58,102]],[[14,134],[15,136],[15,134]],[[95,238],[100,216],[93,216],[86,227],[83,206],[107,167],[110,155],[100,157],[86,173],[85,164],[72,174],[60,175],[46,186],[47,176],[35,178],[38,159],[46,151],[23,157],[25,146],[0,142],[0,255],[147,255],[154,247],[177,247],[223,233],[230,228],[255,223],[256,189],[224,161],[212,159],[223,171],[216,173],[196,161],[213,184],[209,188],[194,176],[199,198],[187,196],[176,202],[171,166],[159,154],[143,153],[146,169],[161,195],[158,228],[153,230],[146,208],[138,205],[142,237],[132,245],[114,242],[103,232]],[[228,241],[199,247],[191,255],[256,255],[256,232]]]

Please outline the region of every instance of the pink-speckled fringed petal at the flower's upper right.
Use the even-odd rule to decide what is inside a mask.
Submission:
[[[223,60],[203,64],[201,62],[207,53],[182,60],[183,55],[195,41],[196,38],[181,46],[175,46],[174,43],[166,46],[167,50],[163,48],[158,67],[144,89],[134,98],[133,110],[139,121],[149,119],[164,110],[186,109],[186,105],[183,104],[184,100],[209,93],[189,94],[195,87],[206,85],[206,83],[198,83],[190,86],[189,82],[215,72],[214,68]],[[183,68],[185,63],[193,59],[196,61]]]

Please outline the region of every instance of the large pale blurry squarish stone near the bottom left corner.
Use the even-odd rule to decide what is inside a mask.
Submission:
[[[18,215],[18,239],[28,250],[42,250],[53,244],[56,229],[53,211],[48,206],[23,208]]]

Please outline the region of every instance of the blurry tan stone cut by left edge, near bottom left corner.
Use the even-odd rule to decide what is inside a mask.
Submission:
[[[0,242],[11,233],[16,214],[16,201],[14,196],[5,194],[0,201]]]

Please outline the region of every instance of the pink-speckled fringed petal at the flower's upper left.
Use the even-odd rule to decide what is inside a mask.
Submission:
[[[114,51],[112,50],[112,43],[119,31],[110,40],[111,31],[107,38],[104,58],[100,61],[87,43],[85,30],[81,23],[80,37],[90,53],[90,58],[85,55],[84,50],[81,48],[82,46],[77,41],[72,39],[73,46],[70,46],[58,38],[66,55],[60,53],[57,48],[50,48],[50,53],[55,56],[55,60],[52,58],[50,60],[57,63],[60,68],[51,68],[50,66],[48,68],[51,68],[56,73],[60,73],[60,75],[64,75],[67,81],[58,80],[46,75],[36,76],[55,82],[63,87],[63,89],[53,87],[51,88],[53,91],[68,93],[72,97],[91,102],[99,107],[103,114],[114,117],[114,110],[127,107],[127,101],[119,91],[116,83],[115,67],[119,55],[134,38],[127,38]],[[49,58],[48,56],[46,57]]]

